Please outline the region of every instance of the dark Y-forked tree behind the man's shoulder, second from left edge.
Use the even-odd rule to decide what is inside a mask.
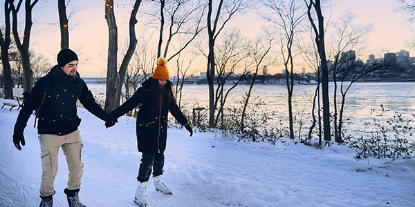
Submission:
[[[29,55],[29,46],[30,46],[30,31],[32,30],[32,10],[33,7],[39,0],[33,1],[25,0],[24,8],[25,8],[25,26],[24,26],[24,35],[23,35],[23,42],[20,40],[19,37],[19,22],[17,21],[17,13],[21,8],[21,3],[23,0],[19,0],[17,6],[15,6],[14,1],[9,1],[10,10],[12,10],[12,19],[13,19],[13,37],[15,37],[15,42],[17,49],[20,52],[21,63],[23,66],[24,72],[24,83],[23,88],[24,91],[29,91],[33,88],[33,71],[30,69],[30,55]]]

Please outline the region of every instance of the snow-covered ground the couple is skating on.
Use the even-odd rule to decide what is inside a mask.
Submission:
[[[2,103],[4,99],[0,99]],[[7,100],[10,102],[10,100]],[[18,112],[0,110],[0,206],[38,206],[41,166],[34,117],[21,151],[12,144]],[[136,206],[135,119],[104,121],[79,108],[84,176],[80,200],[88,207]],[[67,206],[68,170],[59,152],[54,206]],[[238,142],[221,134],[170,128],[164,181],[173,195],[147,187],[149,206],[415,206],[415,160],[353,159],[345,146],[317,150],[289,139],[275,146]]]

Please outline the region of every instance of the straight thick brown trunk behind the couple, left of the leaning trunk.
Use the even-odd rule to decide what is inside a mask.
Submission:
[[[113,10],[113,0],[105,2],[105,19],[108,25],[108,57],[107,57],[107,92],[104,109],[107,112],[116,109],[120,103],[117,100],[117,88],[120,84],[120,77],[117,73],[117,52],[118,52],[118,28],[116,16]]]

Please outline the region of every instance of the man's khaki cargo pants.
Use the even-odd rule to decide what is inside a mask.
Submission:
[[[82,139],[80,131],[68,135],[39,135],[40,157],[42,158],[42,180],[40,181],[40,196],[55,194],[53,181],[57,173],[57,155],[62,147],[68,163],[68,190],[81,188],[81,177],[84,172],[82,163]]]

